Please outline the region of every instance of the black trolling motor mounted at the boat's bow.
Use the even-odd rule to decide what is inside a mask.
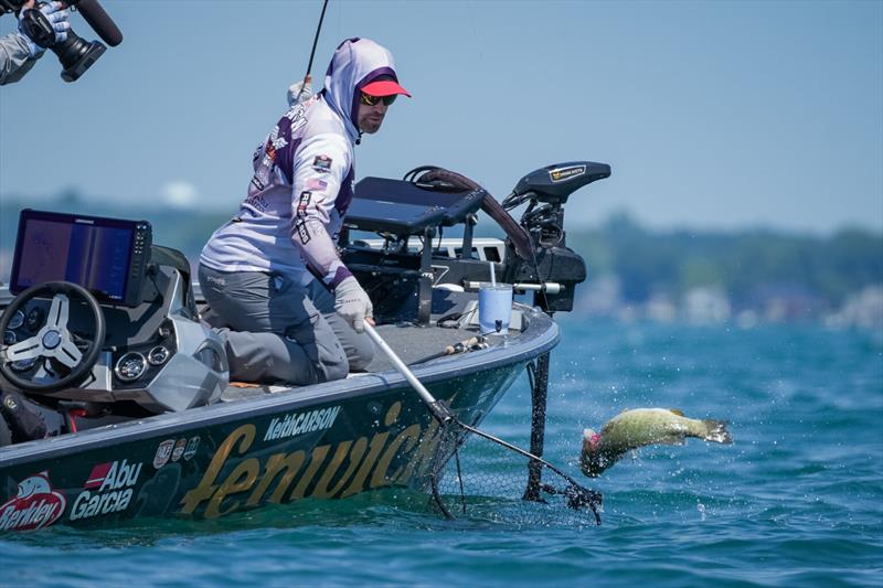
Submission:
[[[532,245],[530,256],[518,255],[510,234],[503,280],[533,285],[534,302],[545,312],[573,310],[576,285],[586,279],[585,261],[567,247],[564,204],[576,190],[609,175],[610,167],[606,163],[573,161],[546,165],[519,180],[502,201],[507,212],[529,202],[520,225]]]

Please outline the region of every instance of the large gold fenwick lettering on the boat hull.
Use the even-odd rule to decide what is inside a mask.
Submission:
[[[425,429],[416,424],[392,428],[401,410],[402,403],[393,404],[383,419],[387,429],[371,438],[320,445],[309,453],[300,449],[241,457],[260,437],[252,424],[236,427],[215,450],[200,483],[184,494],[181,513],[199,514],[204,504],[202,515],[215,518],[264,502],[345,498],[366,489],[407,485],[432,464],[439,435],[435,420]],[[277,426],[280,423],[268,430]]]

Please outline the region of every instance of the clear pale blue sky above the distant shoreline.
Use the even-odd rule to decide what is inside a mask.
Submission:
[[[74,191],[233,213],[321,1],[102,4],[125,40],[79,81],[47,53],[0,87],[0,212]],[[571,197],[571,228],[883,231],[883,1],[330,0],[318,86],[350,36],[387,46],[413,94],[357,147],[357,179],[437,164],[502,200],[599,161],[613,175]]]

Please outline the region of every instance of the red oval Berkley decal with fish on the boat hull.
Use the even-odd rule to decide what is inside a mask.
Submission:
[[[49,471],[19,482],[18,493],[0,504],[0,531],[31,531],[51,525],[64,513],[67,501],[55,492]]]

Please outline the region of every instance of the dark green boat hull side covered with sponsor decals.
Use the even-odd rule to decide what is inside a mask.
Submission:
[[[477,425],[556,342],[538,313],[517,343],[416,374]],[[385,372],[12,446],[0,450],[0,532],[425,491],[437,431],[413,388]]]

